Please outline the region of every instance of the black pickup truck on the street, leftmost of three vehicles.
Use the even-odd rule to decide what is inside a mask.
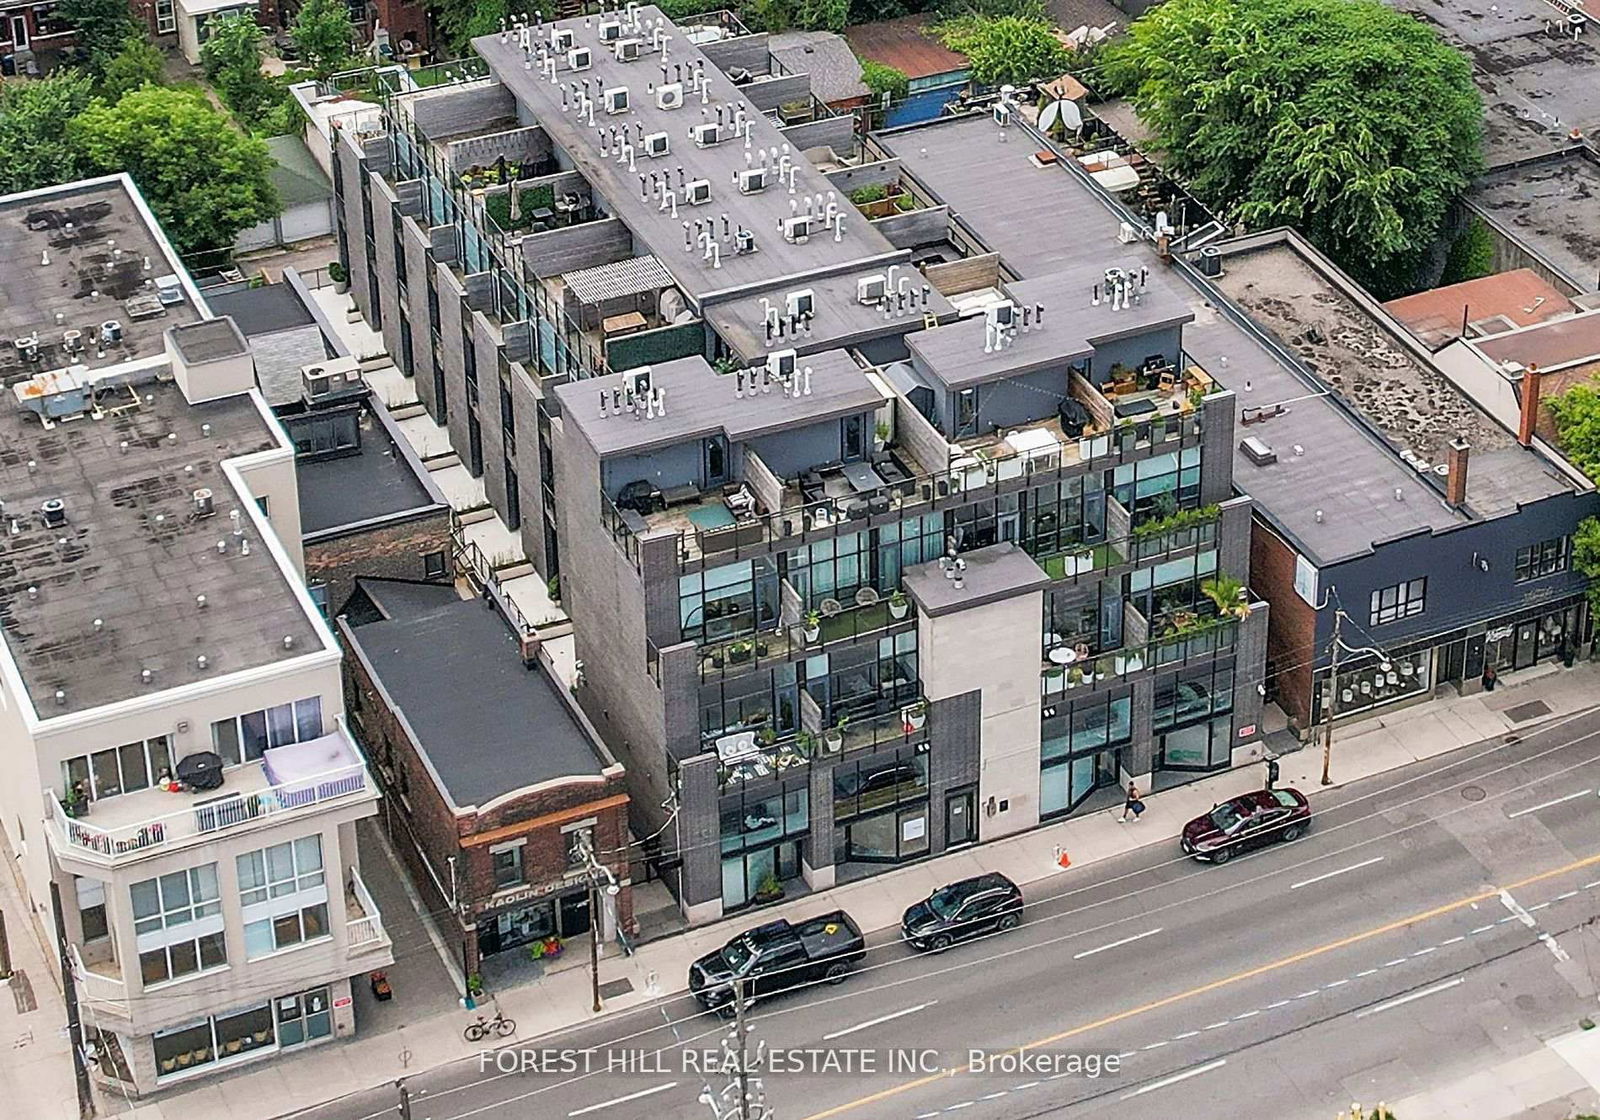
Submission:
[[[707,1011],[731,1014],[741,986],[749,1005],[818,981],[838,984],[866,954],[861,926],[843,910],[800,925],[779,918],[741,933],[690,965],[690,992]]]

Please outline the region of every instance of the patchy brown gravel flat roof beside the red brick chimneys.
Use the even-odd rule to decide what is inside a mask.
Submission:
[[[1518,446],[1438,370],[1406,352],[1386,323],[1362,310],[1290,243],[1224,256],[1218,285],[1296,350],[1395,451],[1410,451],[1432,469],[1445,461],[1453,438],[1464,438],[1472,448],[1467,504],[1478,514],[1507,514],[1522,502],[1571,493],[1541,456]],[[1246,430],[1272,442],[1282,464],[1293,450],[1274,437],[1277,426],[1278,419],[1270,419]]]

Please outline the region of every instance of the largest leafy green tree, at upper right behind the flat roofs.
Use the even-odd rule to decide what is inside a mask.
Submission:
[[[1106,51],[1202,200],[1405,290],[1482,166],[1464,54],[1381,0],[1166,0]]]

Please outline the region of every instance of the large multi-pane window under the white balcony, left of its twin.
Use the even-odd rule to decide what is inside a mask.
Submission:
[[[133,883],[128,896],[146,986],[227,963],[216,864]]]

